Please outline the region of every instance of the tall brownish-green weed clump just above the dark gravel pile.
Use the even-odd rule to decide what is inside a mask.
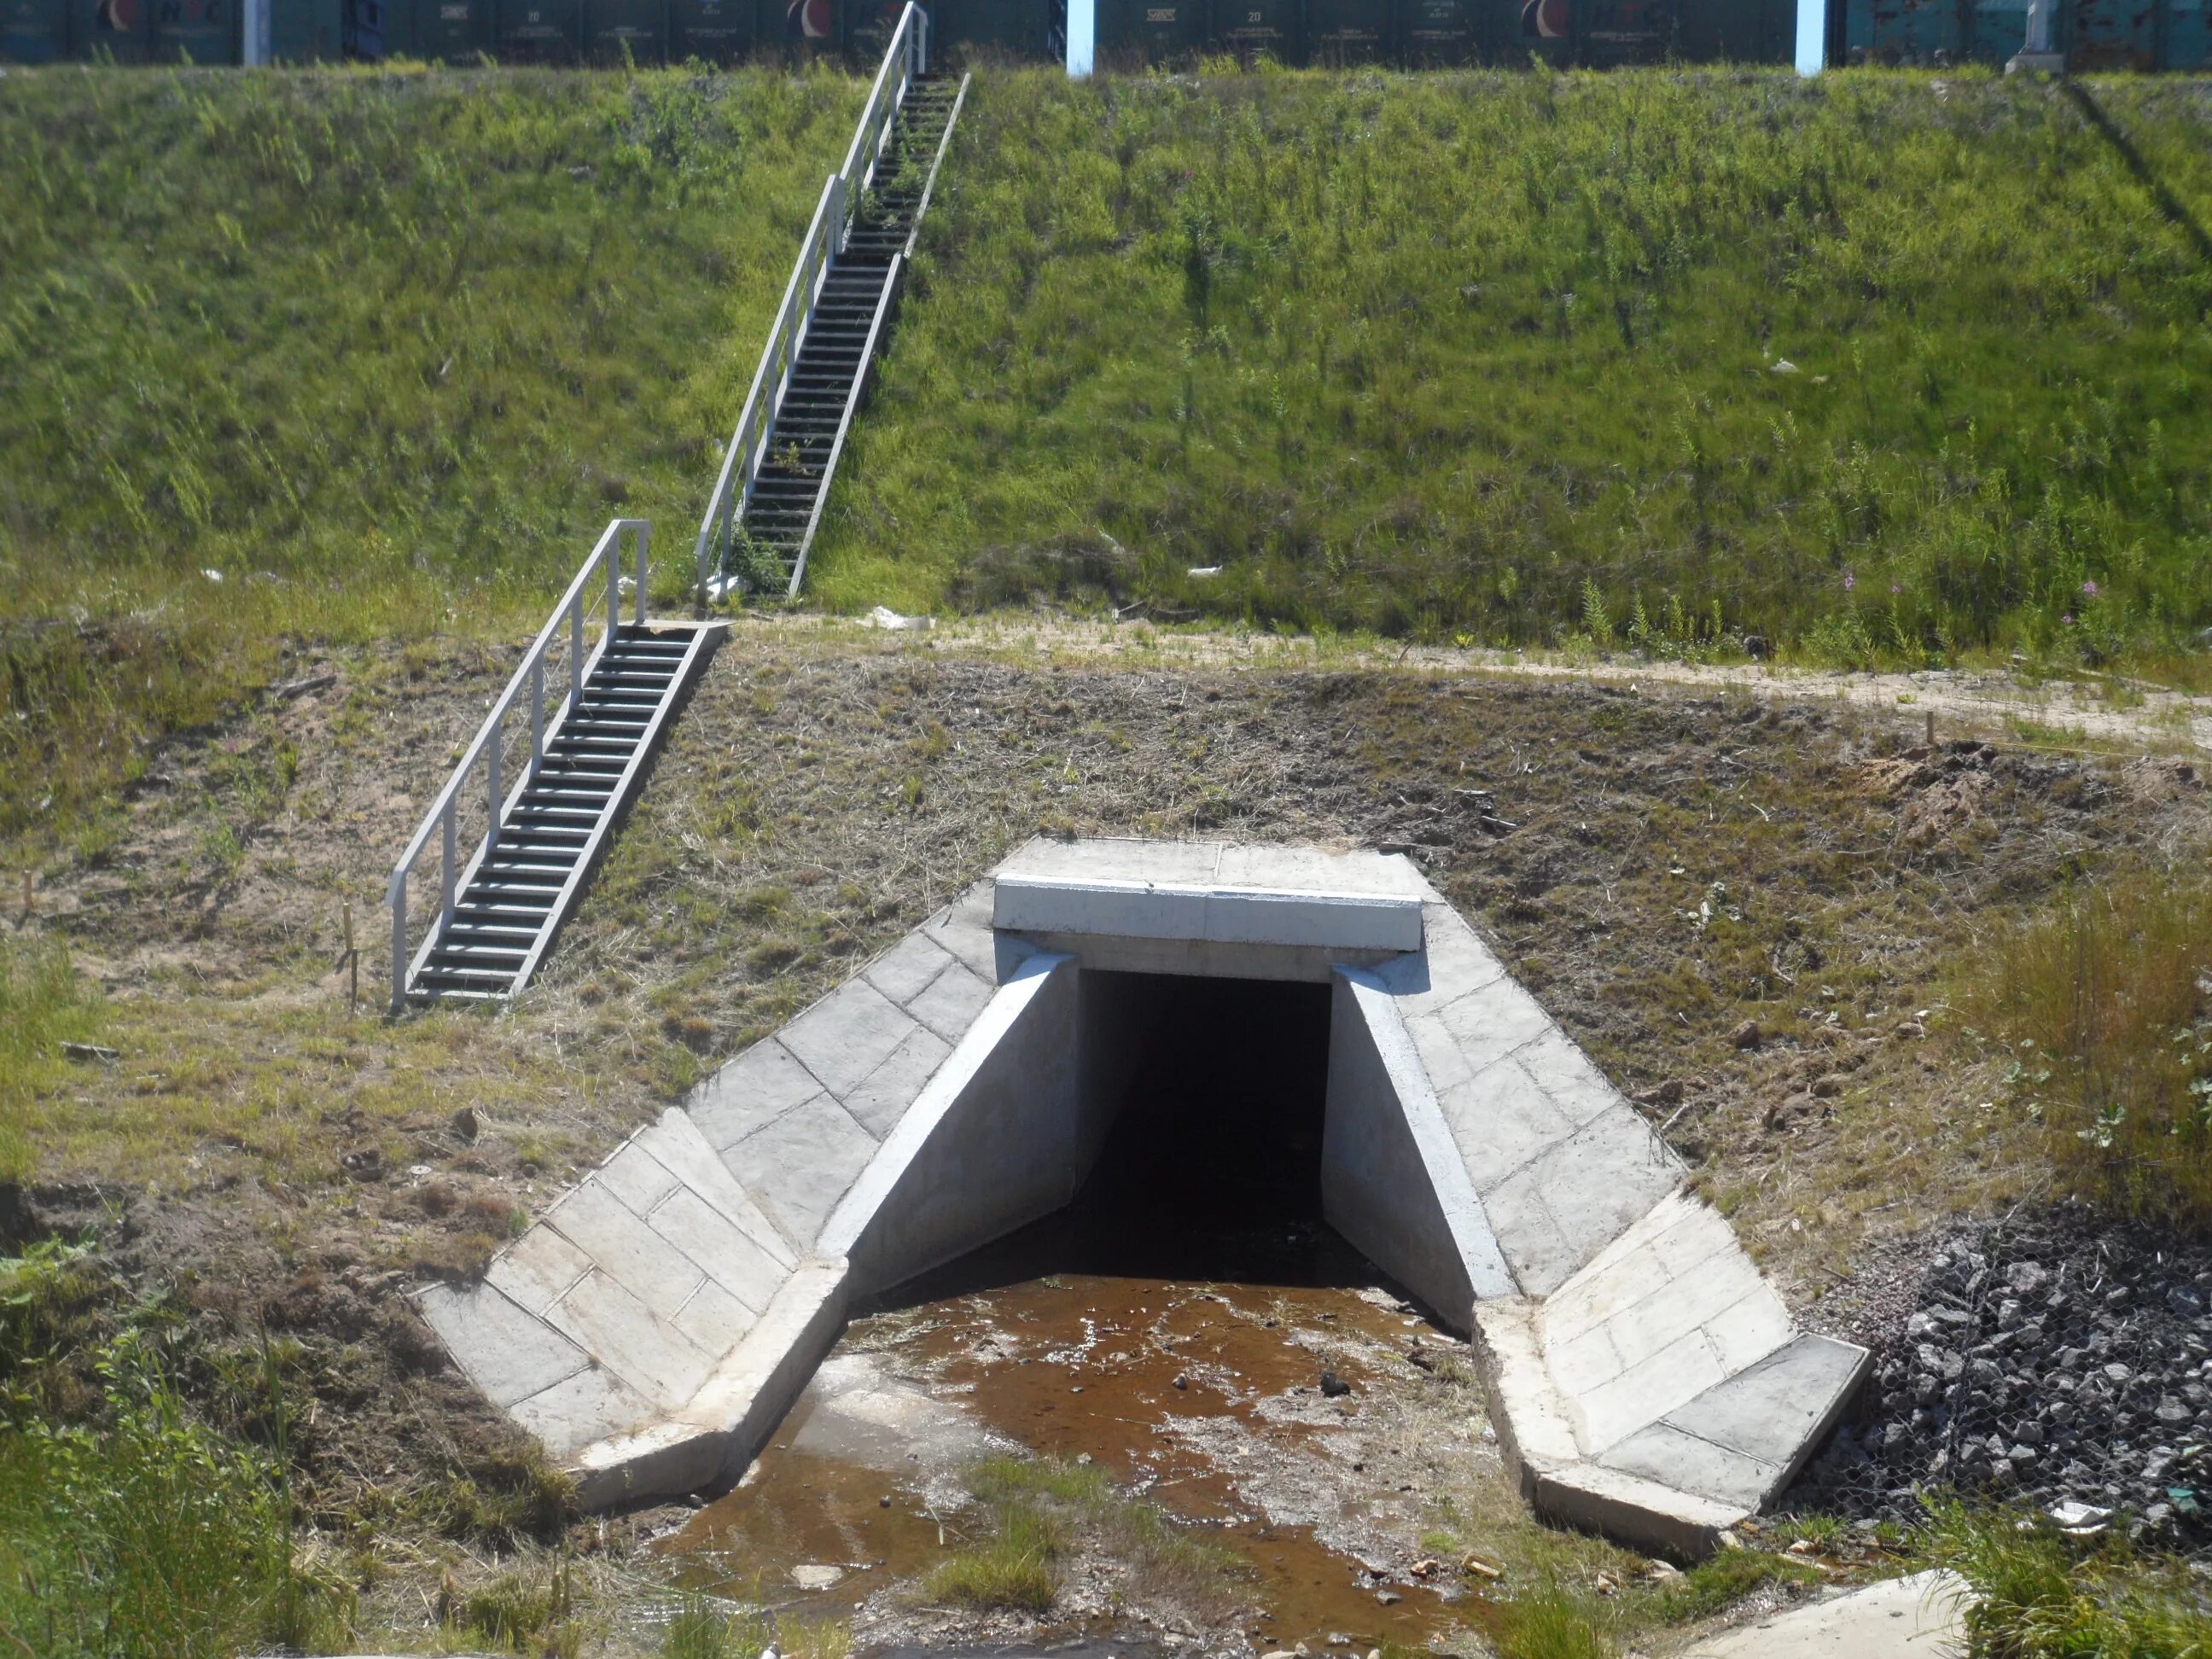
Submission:
[[[2212,885],[2070,887],[1975,953],[1960,1000],[2004,1044],[2066,1183],[2146,1221],[2212,1225]]]

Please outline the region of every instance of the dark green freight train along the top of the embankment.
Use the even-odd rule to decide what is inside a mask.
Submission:
[[[252,9],[252,20],[243,15]],[[0,0],[0,62],[872,64],[896,0]],[[259,31],[252,53],[248,31]],[[1827,0],[1832,62],[2002,64],[2026,0]],[[936,0],[942,62],[1066,58],[1066,0]],[[1095,0],[1099,69],[1232,55],[1400,64],[1785,64],[1794,0]],[[2073,69],[2208,69],[2212,0],[2057,0]]]

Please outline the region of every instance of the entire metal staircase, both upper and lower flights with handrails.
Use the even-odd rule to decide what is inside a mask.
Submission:
[[[953,84],[927,66],[929,20],[909,0],[845,166],[823,186],[723,453],[699,526],[701,599],[761,586],[796,595],[805,580],[914,228],[967,97],[967,77]],[[606,526],[392,869],[394,1011],[511,998],[529,984],[719,644],[719,622],[646,622],[650,531],[630,518]],[[624,538],[637,549],[628,577]],[[637,595],[628,622],[624,584]],[[604,626],[586,653],[602,593]],[[409,898],[434,843],[438,905],[418,914]],[[467,863],[465,847],[473,847]]]

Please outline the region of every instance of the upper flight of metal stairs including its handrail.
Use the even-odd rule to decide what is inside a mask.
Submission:
[[[807,549],[967,97],[967,75],[927,73],[927,27],[909,4],[845,168],[823,186],[699,526],[708,597],[743,588],[796,597],[805,582]]]

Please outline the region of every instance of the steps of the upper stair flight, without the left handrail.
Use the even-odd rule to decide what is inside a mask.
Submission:
[[[878,186],[863,195],[845,248],[823,279],[792,383],[770,422],[765,458],[739,522],[781,566],[790,593],[796,593],[821,524],[845,431],[867,398],[869,369],[898,305],[905,259],[964,84],[951,75],[916,75],[907,86],[891,142],[876,164]]]

